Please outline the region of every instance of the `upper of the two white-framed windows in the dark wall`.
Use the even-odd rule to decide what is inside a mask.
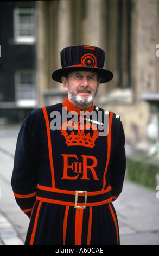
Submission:
[[[14,9],[14,41],[16,44],[33,44],[35,42],[35,9]]]

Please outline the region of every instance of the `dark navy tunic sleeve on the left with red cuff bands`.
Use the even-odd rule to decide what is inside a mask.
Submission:
[[[40,142],[34,113],[23,121],[17,138],[11,186],[17,204],[30,217],[36,200]]]

